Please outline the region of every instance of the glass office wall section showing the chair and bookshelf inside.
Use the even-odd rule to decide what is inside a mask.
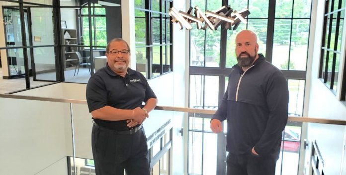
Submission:
[[[106,65],[107,43],[122,37],[120,5],[120,1],[60,1],[66,82],[87,83],[91,75]]]

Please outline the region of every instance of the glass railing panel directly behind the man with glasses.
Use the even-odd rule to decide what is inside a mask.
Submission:
[[[75,158],[70,156],[68,164],[71,165],[71,171],[79,175],[85,170],[94,171],[94,162],[91,149],[91,130],[92,116],[88,111],[86,104],[72,104]],[[173,116],[181,116],[184,113],[154,110],[149,118],[143,123],[143,128],[147,137],[148,153],[150,165],[154,172],[158,170],[168,172],[168,162],[172,147],[172,127]],[[168,174],[167,174],[168,175]]]

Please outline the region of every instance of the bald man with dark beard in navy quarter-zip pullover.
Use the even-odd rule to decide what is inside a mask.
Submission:
[[[254,32],[238,33],[238,64],[210,121],[211,130],[218,133],[227,119],[227,175],[275,175],[287,123],[288,87],[282,72],[258,51]]]

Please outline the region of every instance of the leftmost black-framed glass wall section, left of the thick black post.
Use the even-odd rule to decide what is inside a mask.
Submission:
[[[52,1],[0,0],[0,8],[0,19],[4,21],[0,29],[0,55],[4,60],[1,78],[11,79],[6,82],[14,86],[13,91],[57,81]]]

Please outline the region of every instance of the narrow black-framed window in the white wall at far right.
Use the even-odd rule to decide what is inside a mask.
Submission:
[[[319,78],[334,93],[337,92],[339,84],[338,77],[344,15],[344,0],[326,1]]]

